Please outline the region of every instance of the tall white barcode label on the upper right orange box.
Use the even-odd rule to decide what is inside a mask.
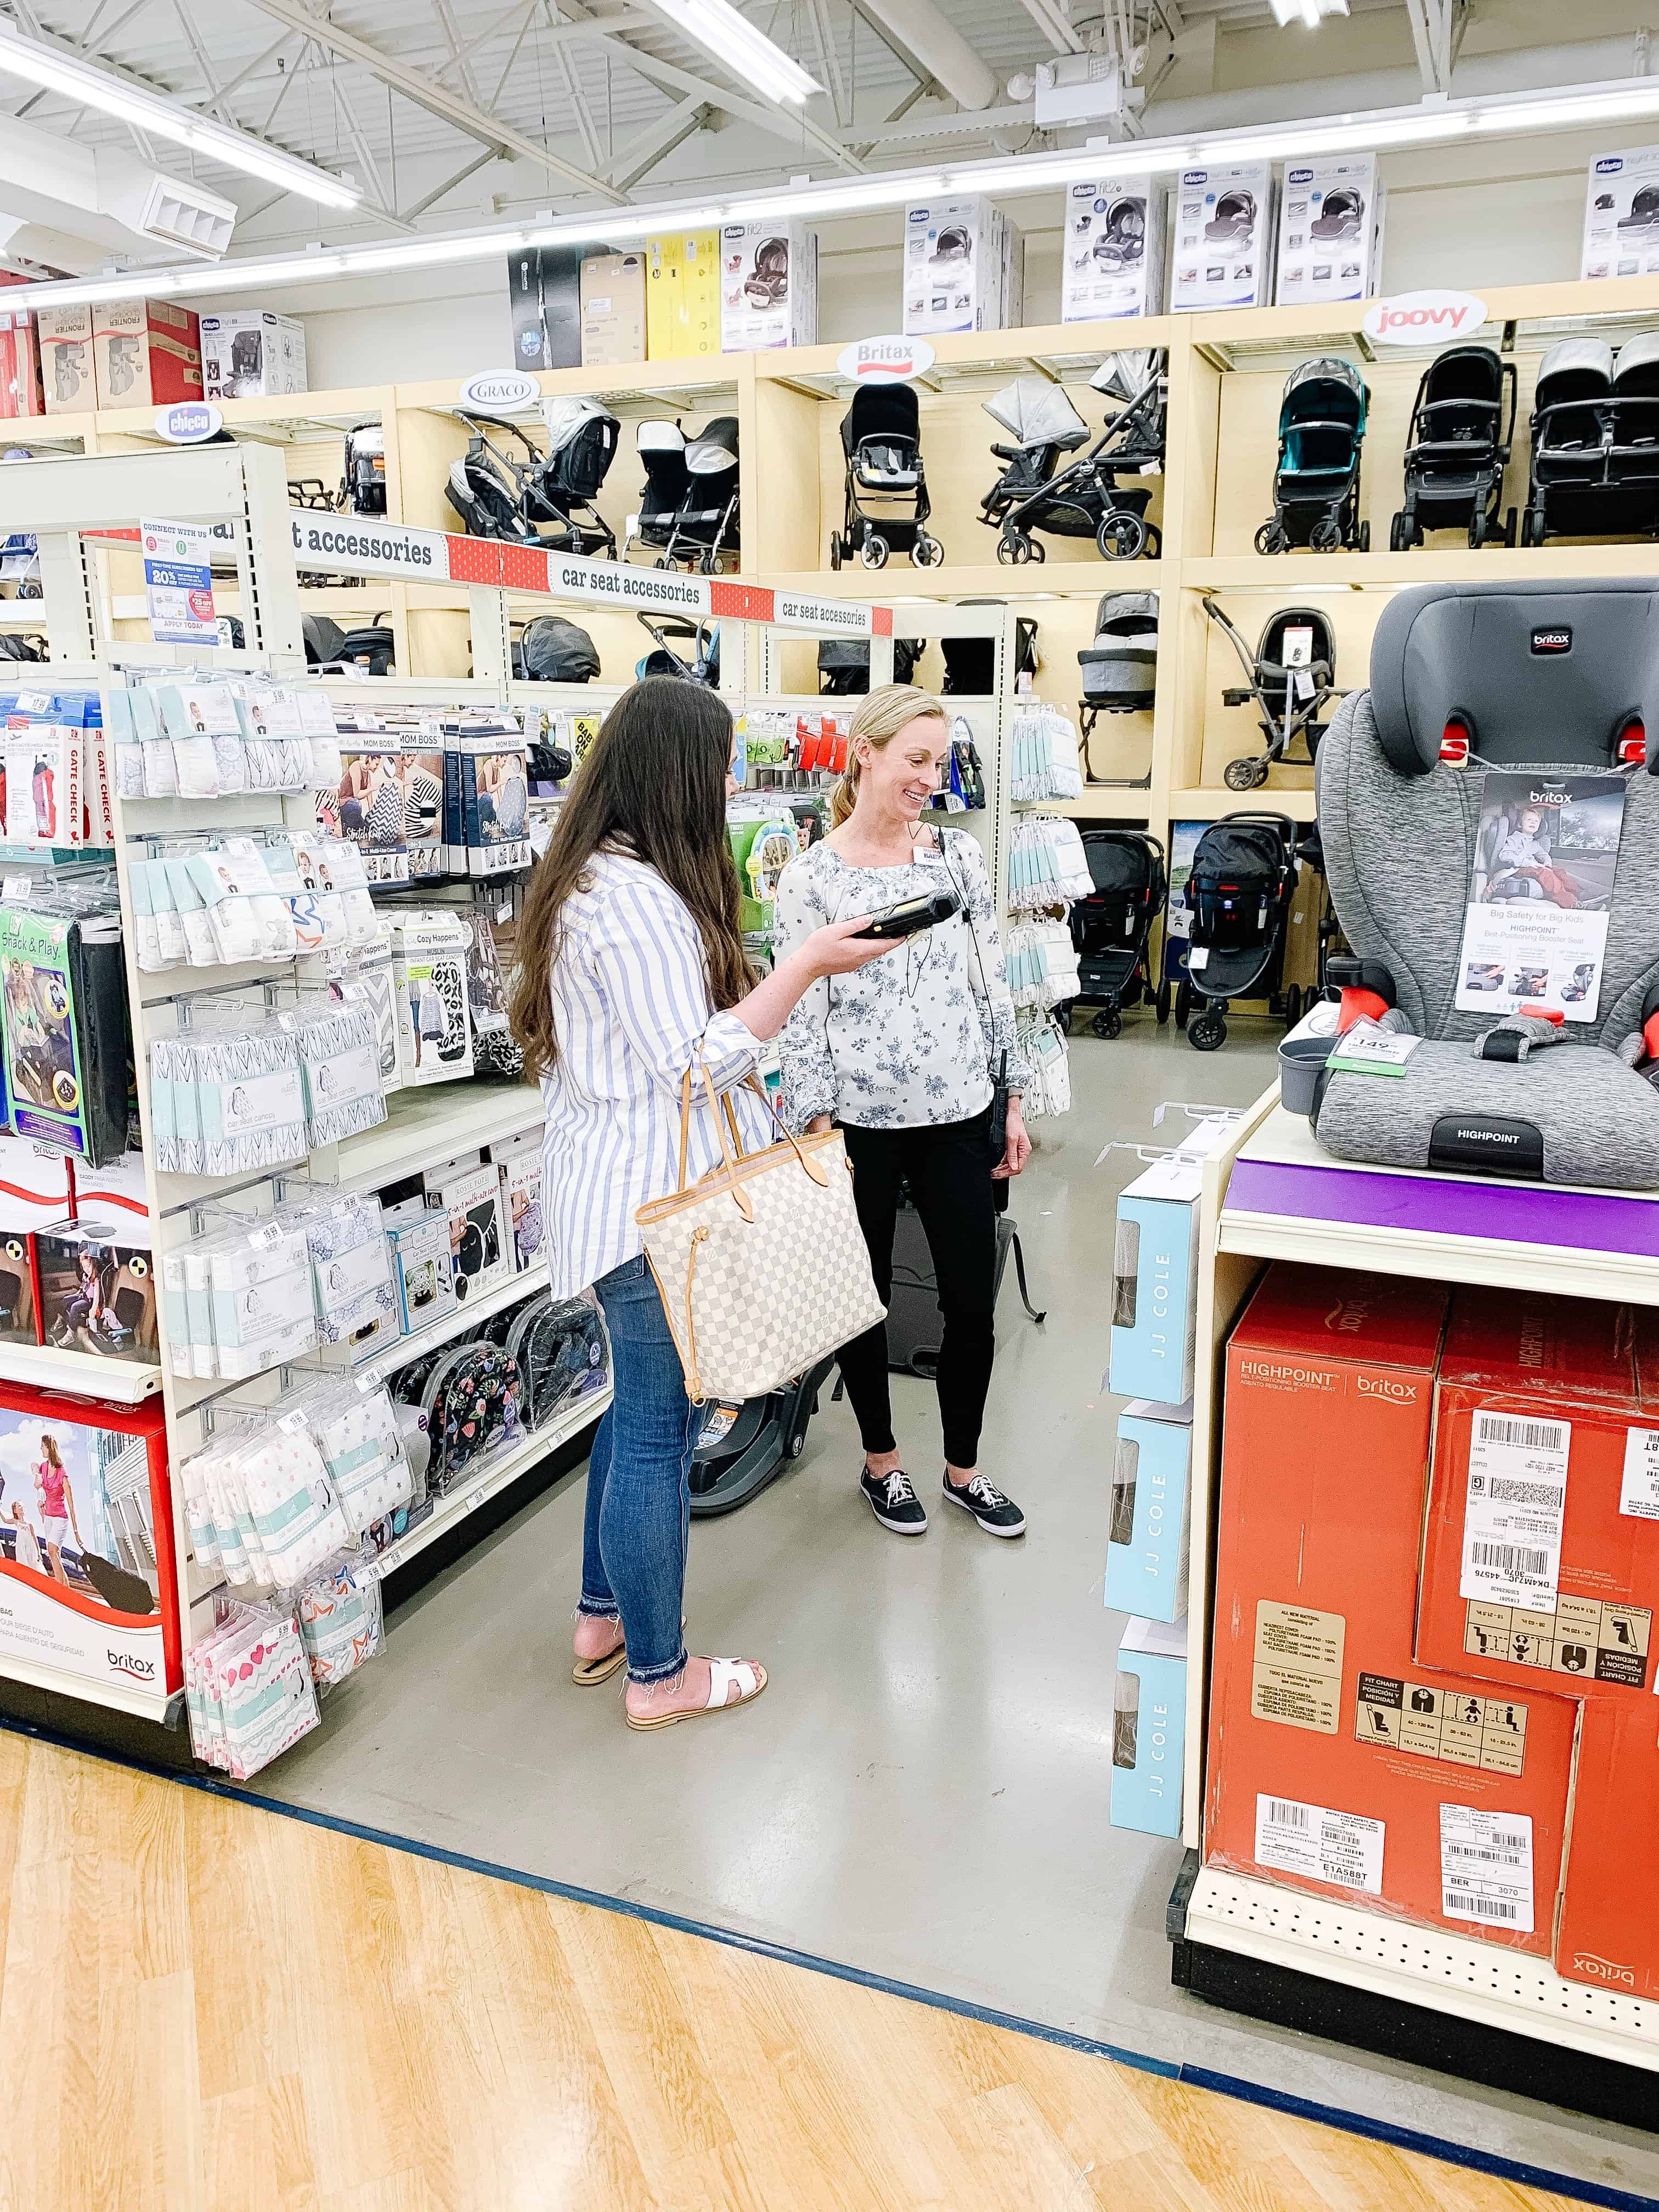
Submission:
[[[1571,1420],[1478,1411],[1469,1436],[1460,1597],[1555,1613]]]

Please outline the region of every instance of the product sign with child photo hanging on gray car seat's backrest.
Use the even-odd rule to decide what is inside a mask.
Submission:
[[[1624,790],[1619,776],[1484,779],[1458,953],[1464,1013],[1595,1020]]]

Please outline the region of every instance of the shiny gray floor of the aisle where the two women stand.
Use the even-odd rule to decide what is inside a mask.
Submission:
[[[1659,2139],[1267,2028],[1170,1989],[1181,1847],[1108,1823],[1113,1659],[1102,1604],[1117,1400],[1113,1206],[1139,1172],[1108,1137],[1166,1141],[1161,1099],[1243,1104],[1276,1033],[1199,1055],[1130,1018],[1073,1042],[1073,1113],[1037,1124],[1015,1186],[1042,1329],[1009,1281],[982,1464],[1022,1544],[962,1515],[885,1535],[856,1491],[845,1405],[743,1511],[692,1526],[695,1650],[765,1659],[732,1721],[635,1736],[619,1683],[568,1679],[582,1553],[573,1475],[394,1621],[385,1659],[257,1787],[498,1865],[650,1902],[872,1973],[1210,2066],[1579,2179],[1659,2194]],[[938,1409],[896,1378],[929,1511]]]

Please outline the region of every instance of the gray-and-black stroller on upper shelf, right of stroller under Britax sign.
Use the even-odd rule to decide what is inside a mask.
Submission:
[[[1018,378],[1015,389],[1035,378]],[[1057,387],[1046,387],[1055,392]],[[1064,398],[1064,392],[1060,394]],[[995,407],[995,403],[989,403]],[[1068,403],[1066,403],[1068,405]],[[1150,484],[1124,491],[1119,476],[1144,473],[1164,465],[1164,416],[1168,407],[1168,369],[1164,356],[1152,358],[1152,369],[1141,387],[1128,398],[1093,447],[1055,476],[1062,453],[1075,451],[1088,429],[1075,416],[1077,429],[1044,438],[1035,445],[993,445],[991,451],[1006,469],[980,500],[980,522],[998,531],[998,560],[1009,564],[1046,560],[1046,546],[1033,531],[1046,529],[1057,538],[1093,538],[1102,560],[1157,560],[1164,538],[1155,522],[1146,520],[1152,498]],[[1002,416],[993,416],[1002,420]]]

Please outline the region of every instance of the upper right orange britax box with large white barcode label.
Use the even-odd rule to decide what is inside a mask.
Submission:
[[[1436,1391],[1422,1666],[1575,1697],[1652,1688],[1655,1349],[1628,1305],[1458,1292]]]

